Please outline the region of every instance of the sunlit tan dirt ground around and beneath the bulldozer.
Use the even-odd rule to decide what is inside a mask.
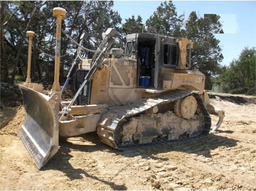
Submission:
[[[60,141],[40,170],[18,136],[23,107],[2,106],[0,190],[256,190],[255,97],[217,96],[226,117],[202,140],[119,151],[90,133]]]

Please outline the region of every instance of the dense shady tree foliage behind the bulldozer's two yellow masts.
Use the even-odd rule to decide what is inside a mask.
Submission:
[[[60,59],[60,82],[65,80],[77,49],[77,45],[71,43],[64,32],[77,42],[80,41],[82,33],[89,33],[95,42],[91,43],[89,48],[96,49],[102,40],[102,32],[107,28],[120,30],[118,26],[121,24],[121,17],[118,12],[112,10],[113,1],[5,1],[4,11],[1,12],[1,24],[4,23],[4,26],[1,25],[1,28],[3,27],[7,59],[3,63],[1,54],[1,67],[6,66],[7,71],[17,68],[18,75],[26,76],[26,31],[30,30],[36,33],[32,48],[32,81],[53,79],[55,62],[54,57],[49,55],[55,55],[56,18],[52,16],[54,7],[62,7],[67,11],[66,18],[62,19],[61,55],[66,56]],[[22,47],[21,50],[19,46]],[[17,61],[16,66],[14,63]],[[12,73],[13,80],[15,75],[16,72]],[[1,75],[1,79],[2,77]]]

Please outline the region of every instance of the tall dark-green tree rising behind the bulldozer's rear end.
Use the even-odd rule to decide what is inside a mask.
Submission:
[[[223,59],[220,41],[214,33],[223,33],[220,16],[205,14],[204,18],[198,18],[195,11],[190,13],[184,37],[194,42],[191,67],[198,68],[206,75],[206,89],[212,88],[211,77],[220,74]]]

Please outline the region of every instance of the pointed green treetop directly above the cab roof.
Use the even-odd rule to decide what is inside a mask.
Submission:
[[[146,21],[147,31],[149,33],[181,36],[181,28],[183,25],[185,14],[177,16],[176,7],[172,1],[165,1],[157,7],[157,10]]]

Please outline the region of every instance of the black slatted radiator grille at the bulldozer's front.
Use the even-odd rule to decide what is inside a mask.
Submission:
[[[88,72],[89,72],[89,70],[81,70],[81,69],[77,70],[76,83],[75,83],[75,94],[81,87],[81,85],[85,79],[85,76],[87,75]],[[83,87],[82,91],[79,93],[79,95],[77,96],[77,99],[75,100],[75,104],[76,105],[89,105],[90,104],[90,94],[91,94],[91,80],[86,83],[85,87]]]

